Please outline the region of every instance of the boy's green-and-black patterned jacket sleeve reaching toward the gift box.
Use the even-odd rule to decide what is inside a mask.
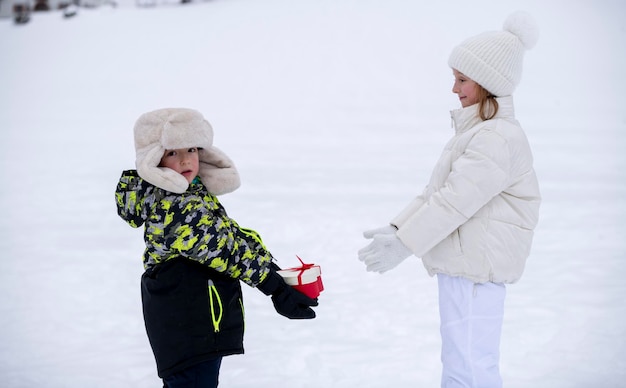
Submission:
[[[266,278],[272,255],[256,232],[241,228],[226,215],[217,199],[207,204],[193,196],[165,206],[180,206],[165,213],[163,246],[170,255],[198,261],[252,287]],[[158,231],[149,235],[155,232],[158,235]]]

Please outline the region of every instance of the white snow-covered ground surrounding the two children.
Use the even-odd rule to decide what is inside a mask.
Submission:
[[[283,267],[320,264],[318,317],[244,286],[246,354],[222,387],[439,385],[436,281],[357,260],[427,183],[453,130],[447,57],[517,9],[541,37],[517,116],[543,205],[508,287],[506,387],[626,386],[626,5],[620,1],[213,0],[0,20],[0,386],[159,387],[142,230],[116,214],[132,127],[201,111],[236,162],[222,197]]]

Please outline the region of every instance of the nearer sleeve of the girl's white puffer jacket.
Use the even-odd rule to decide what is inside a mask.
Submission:
[[[417,257],[423,257],[471,218],[509,179],[506,140],[490,130],[479,131],[451,165],[440,187],[418,197],[393,222],[397,236]]]

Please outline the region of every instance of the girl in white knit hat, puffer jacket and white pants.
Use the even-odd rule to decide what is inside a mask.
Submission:
[[[529,15],[455,47],[448,64],[455,134],[421,195],[389,225],[364,233],[368,271],[415,255],[437,275],[442,387],[501,387],[505,284],[522,276],[541,201],[533,157],[515,119],[513,93],[525,49],[537,41]]]

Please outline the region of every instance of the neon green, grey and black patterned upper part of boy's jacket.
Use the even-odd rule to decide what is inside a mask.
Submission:
[[[252,287],[265,280],[272,255],[261,238],[229,218],[199,180],[183,194],[175,194],[144,181],[136,170],[127,170],[115,199],[122,219],[134,228],[145,225],[145,269],[182,256]]]

